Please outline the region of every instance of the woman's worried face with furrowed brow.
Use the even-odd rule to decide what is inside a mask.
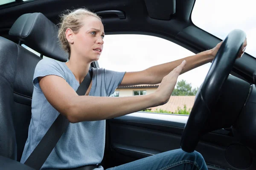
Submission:
[[[92,16],[87,16],[82,21],[82,26],[76,34],[73,34],[73,43],[70,45],[76,55],[85,57],[88,62],[97,61],[103,50],[104,27],[102,22]]]

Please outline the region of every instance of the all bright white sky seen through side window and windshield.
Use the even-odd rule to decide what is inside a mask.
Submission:
[[[256,11],[253,0],[196,0],[192,22],[224,39],[233,29],[247,34],[246,52],[256,57]],[[194,55],[168,40],[148,35],[106,35],[99,66],[114,71],[141,71],[148,67]],[[199,87],[211,63],[178,77]]]

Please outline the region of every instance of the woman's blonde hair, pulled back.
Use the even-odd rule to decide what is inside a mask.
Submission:
[[[86,8],[78,8],[73,11],[66,10],[60,16],[61,22],[59,24],[60,26],[58,30],[58,38],[61,42],[62,48],[68,53],[68,59],[70,59],[71,51],[70,51],[70,45],[69,45],[69,42],[67,41],[65,32],[67,28],[70,28],[74,33],[77,33],[79,29],[84,25],[84,23],[82,22],[82,19],[86,16],[96,17],[100,21],[102,21],[97,14],[89,11]]]

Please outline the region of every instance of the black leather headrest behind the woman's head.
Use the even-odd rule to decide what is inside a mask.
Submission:
[[[58,40],[58,27],[42,13],[21,15],[9,31],[23,44],[44,56],[66,62],[68,54],[61,48]]]

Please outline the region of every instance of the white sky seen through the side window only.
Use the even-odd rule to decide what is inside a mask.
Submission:
[[[107,35],[99,66],[114,71],[140,71],[148,67],[194,55],[173,42],[148,35]],[[199,87],[210,63],[178,77]]]

